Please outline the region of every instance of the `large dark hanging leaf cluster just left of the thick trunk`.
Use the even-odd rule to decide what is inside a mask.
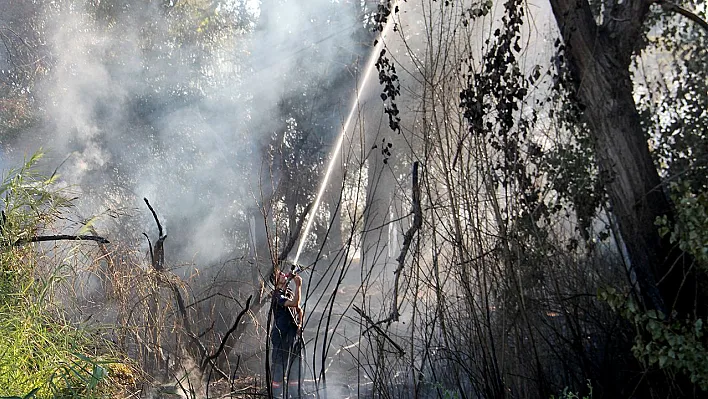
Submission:
[[[466,70],[462,67],[466,84],[459,94],[459,107],[467,136],[483,139],[493,150],[490,161],[495,186],[520,198],[520,215],[514,217],[517,226],[529,235],[543,235],[537,223],[552,210],[543,201],[543,187],[536,184],[542,179],[540,164],[544,162],[543,151],[531,134],[538,115],[525,109],[533,83],[520,63],[525,11],[515,0],[507,1],[504,8],[500,26],[485,41],[481,69],[475,69],[471,58]]]

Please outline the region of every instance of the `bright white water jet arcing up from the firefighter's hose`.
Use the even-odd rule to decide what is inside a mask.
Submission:
[[[366,87],[367,82],[369,81],[369,78],[371,77],[371,72],[373,72],[374,67],[376,66],[376,60],[379,58],[379,54],[381,53],[381,50],[384,47],[384,40],[386,39],[386,36],[390,33],[391,29],[393,29],[393,26],[395,25],[395,22],[393,21],[393,14],[395,9],[398,7],[398,0],[392,2],[391,4],[391,14],[388,16],[388,20],[386,21],[386,25],[384,25],[383,30],[381,30],[381,33],[379,34],[378,40],[376,42],[376,45],[374,46],[374,49],[371,51],[371,55],[369,56],[369,60],[366,63],[366,68],[364,69],[364,76],[359,83],[359,87],[357,87],[356,94],[354,96],[354,101],[351,107],[351,110],[349,111],[349,116],[347,116],[346,121],[344,122],[344,125],[342,126],[342,131],[339,134],[339,138],[337,139],[337,143],[334,146],[334,151],[332,151],[332,156],[331,159],[329,160],[329,164],[327,165],[327,172],[325,173],[324,177],[322,178],[322,183],[320,184],[320,189],[317,191],[317,197],[315,198],[315,203],[312,206],[312,210],[310,211],[310,214],[307,219],[307,224],[305,225],[305,230],[303,230],[302,236],[300,238],[300,243],[297,246],[297,252],[295,254],[295,259],[293,263],[298,264],[298,260],[300,259],[300,254],[302,253],[302,249],[305,246],[305,243],[307,242],[307,236],[310,233],[310,230],[312,229],[312,223],[315,220],[315,215],[317,214],[317,209],[320,206],[320,202],[322,202],[322,196],[324,195],[325,189],[327,188],[327,184],[329,183],[329,178],[332,175],[332,171],[334,170],[334,165],[337,163],[337,158],[339,158],[339,154],[342,151],[342,144],[344,143],[344,139],[347,135],[347,130],[349,130],[349,125],[351,125],[352,119],[354,119],[354,115],[356,114],[356,110],[359,105],[359,97],[361,93],[363,92],[364,88]]]

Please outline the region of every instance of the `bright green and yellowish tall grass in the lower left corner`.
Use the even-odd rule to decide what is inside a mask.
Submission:
[[[65,266],[36,271],[46,262],[30,245],[16,245],[50,228],[70,201],[56,190],[56,176],[37,172],[42,154],[11,170],[0,185],[3,218],[0,233],[0,395],[24,398],[96,397],[105,380],[105,362],[96,360],[100,336],[62,317],[54,288]],[[18,396],[10,396],[18,397]]]

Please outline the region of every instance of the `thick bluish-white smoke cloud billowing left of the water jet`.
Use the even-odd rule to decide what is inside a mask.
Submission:
[[[220,22],[180,25],[168,13],[186,5],[157,3],[115,4],[101,17],[97,2],[47,5],[52,68],[36,95],[45,117],[5,150],[19,159],[43,147],[52,169],[65,160],[59,173],[87,216],[137,210],[136,229],[153,233],[148,198],[170,234],[168,258],[215,262],[236,246],[235,214],[255,205],[278,102],[343,68],[335,60],[353,47],[355,18],[351,7],[317,0],[280,2],[258,20],[249,3],[255,29],[203,36],[207,43],[200,30]]]

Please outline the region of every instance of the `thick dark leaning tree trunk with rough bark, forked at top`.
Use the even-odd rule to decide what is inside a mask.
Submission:
[[[685,277],[675,265],[680,254],[672,253],[654,224],[672,209],[640,126],[629,74],[649,2],[608,5],[600,26],[586,0],[550,2],[641,296],[649,308],[688,315],[695,309],[690,295],[677,301]]]

